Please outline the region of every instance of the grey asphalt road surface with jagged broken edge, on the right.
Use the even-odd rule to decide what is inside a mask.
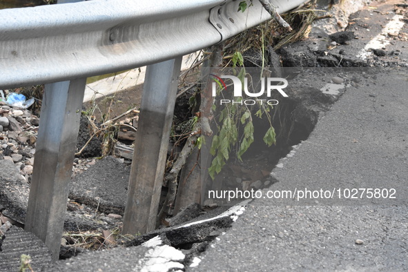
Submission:
[[[357,56],[391,19],[394,3],[402,1],[375,1],[375,8],[354,14],[360,39],[338,50]],[[373,28],[362,32],[362,21]],[[400,33],[407,35],[406,23]],[[398,64],[407,59],[407,43],[396,37],[386,37],[391,43],[384,50],[402,52],[394,56]],[[279,182],[262,195],[304,188],[347,195],[347,189],[365,188],[363,197],[358,191],[356,199],[253,200],[188,270],[408,271],[408,69],[356,69],[356,76],[362,81],[320,115],[293,157],[281,159],[273,172]],[[394,188],[396,198],[368,197],[367,188]]]

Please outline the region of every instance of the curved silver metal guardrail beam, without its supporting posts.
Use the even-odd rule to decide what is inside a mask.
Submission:
[[[304,0],[273,0],[278,12]],[[108,0],[0,10],[0,88],[154,64],[228,39],[271,16],[259,1]]]

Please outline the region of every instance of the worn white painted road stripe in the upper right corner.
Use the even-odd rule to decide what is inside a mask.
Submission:
[[[397,33],[400,32],[402,26],[404,26],[404,22],[401,21],[402,15],[395,15],[389,23],[387,23],[387,26],[382,30],[380,34],[378,34],[376,37],[371,39],[369,43],[363,48],[357,55],[357,57],[361,59],[367,59],[369,55],[372,54],[371,51],[369,51],[371,48],[372,49],[380,49],[385,46],[389,45],[389,41],[387,40],[388,34],[389,33]]]

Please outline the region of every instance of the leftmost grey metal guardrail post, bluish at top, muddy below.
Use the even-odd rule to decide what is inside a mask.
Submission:
[[[25,230],[59,258],[86,78],[47,84],[43,95]]]

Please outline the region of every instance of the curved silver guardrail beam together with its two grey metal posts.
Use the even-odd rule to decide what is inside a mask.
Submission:
[[[278,12],[303,2],[273,0]],[[0,88],[51,83],[41,106],[25,230],[46,243],[54,260],[86,77],[150,64],[122,231],[151,231],[157,222],[182,55],[270,18],[258,0],[244,13],[237,11],[239,3],[95,0],[0,10]]]

